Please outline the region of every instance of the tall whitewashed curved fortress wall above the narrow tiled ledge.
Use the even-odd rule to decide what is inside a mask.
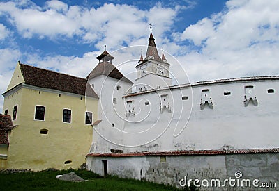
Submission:
[[[91,151],[275,148],[278,90],[278,77],[209,81],[124,96],[107,90],[100,97],[103,118],[94,128],[98,133],[93,133]]]

